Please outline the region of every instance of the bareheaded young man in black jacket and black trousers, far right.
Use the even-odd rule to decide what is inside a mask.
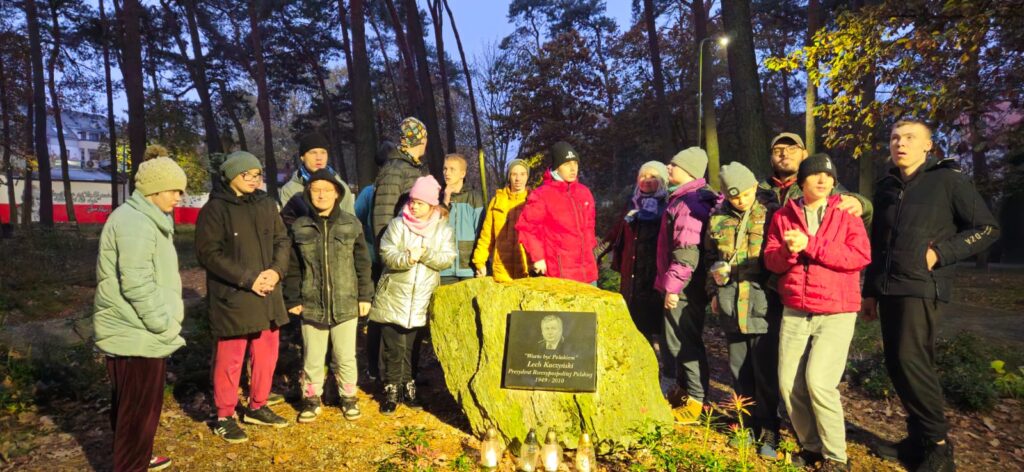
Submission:
[[[899,121],[889,137],[895,168],[874,192],[871,264],[862,315],[881,314],[886,367],[907,413],[907,437],[879,447],[918,470],[952,471],[935,333],[949,302],[956,262],[984,251],[998,225],[952,160],[928,157],[932,131]]]

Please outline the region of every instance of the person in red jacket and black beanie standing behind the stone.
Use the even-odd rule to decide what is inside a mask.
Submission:
[[[584,284],[597,282],[596,212],[590,188],[580,183],[580,155],[565,141],[548,152],[544,183],[526,198],[515,224],[532,269]]]

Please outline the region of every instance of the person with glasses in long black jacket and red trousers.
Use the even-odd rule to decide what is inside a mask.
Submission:
[[[278,363],[279,331],[288,323],[278,282],[287,273],[291,241],[278,205],[259,189],[263,166],[239,151],[220,167],[225,184],[214,190],[196,223],[196,256],[206,269],[210,329],[217,339],[213,396],[214,432],[228,442],[248,439],[234,422],[242,364],[252,357],[246,423],[284,427],[266,406]]]

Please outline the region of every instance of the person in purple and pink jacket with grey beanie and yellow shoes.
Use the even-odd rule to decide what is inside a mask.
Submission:
[[[703,409],[708,391],[708,355],[705,352],[705,292],[707,268],[700,264],[701,238],[712,209],[722,197],[703,179],[708,155],[688,147],[673,156],[669,168],[669,203],[657,237],[657,277],[654,288],[665,294],[666,346],[662,362],[666,377],[675,377],[677,390],[686,395],[677,419],[693,424]],[[670,395],[670,398],[675,397]]]

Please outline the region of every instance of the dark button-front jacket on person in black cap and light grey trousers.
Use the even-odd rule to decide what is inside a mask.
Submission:
[[[357,218],[338,207],[327,218],[300,216],[292,241],[285,303],[302,305],[303,319],[334,326],[356,317],[357,302],[373,300],[370,252]]]

